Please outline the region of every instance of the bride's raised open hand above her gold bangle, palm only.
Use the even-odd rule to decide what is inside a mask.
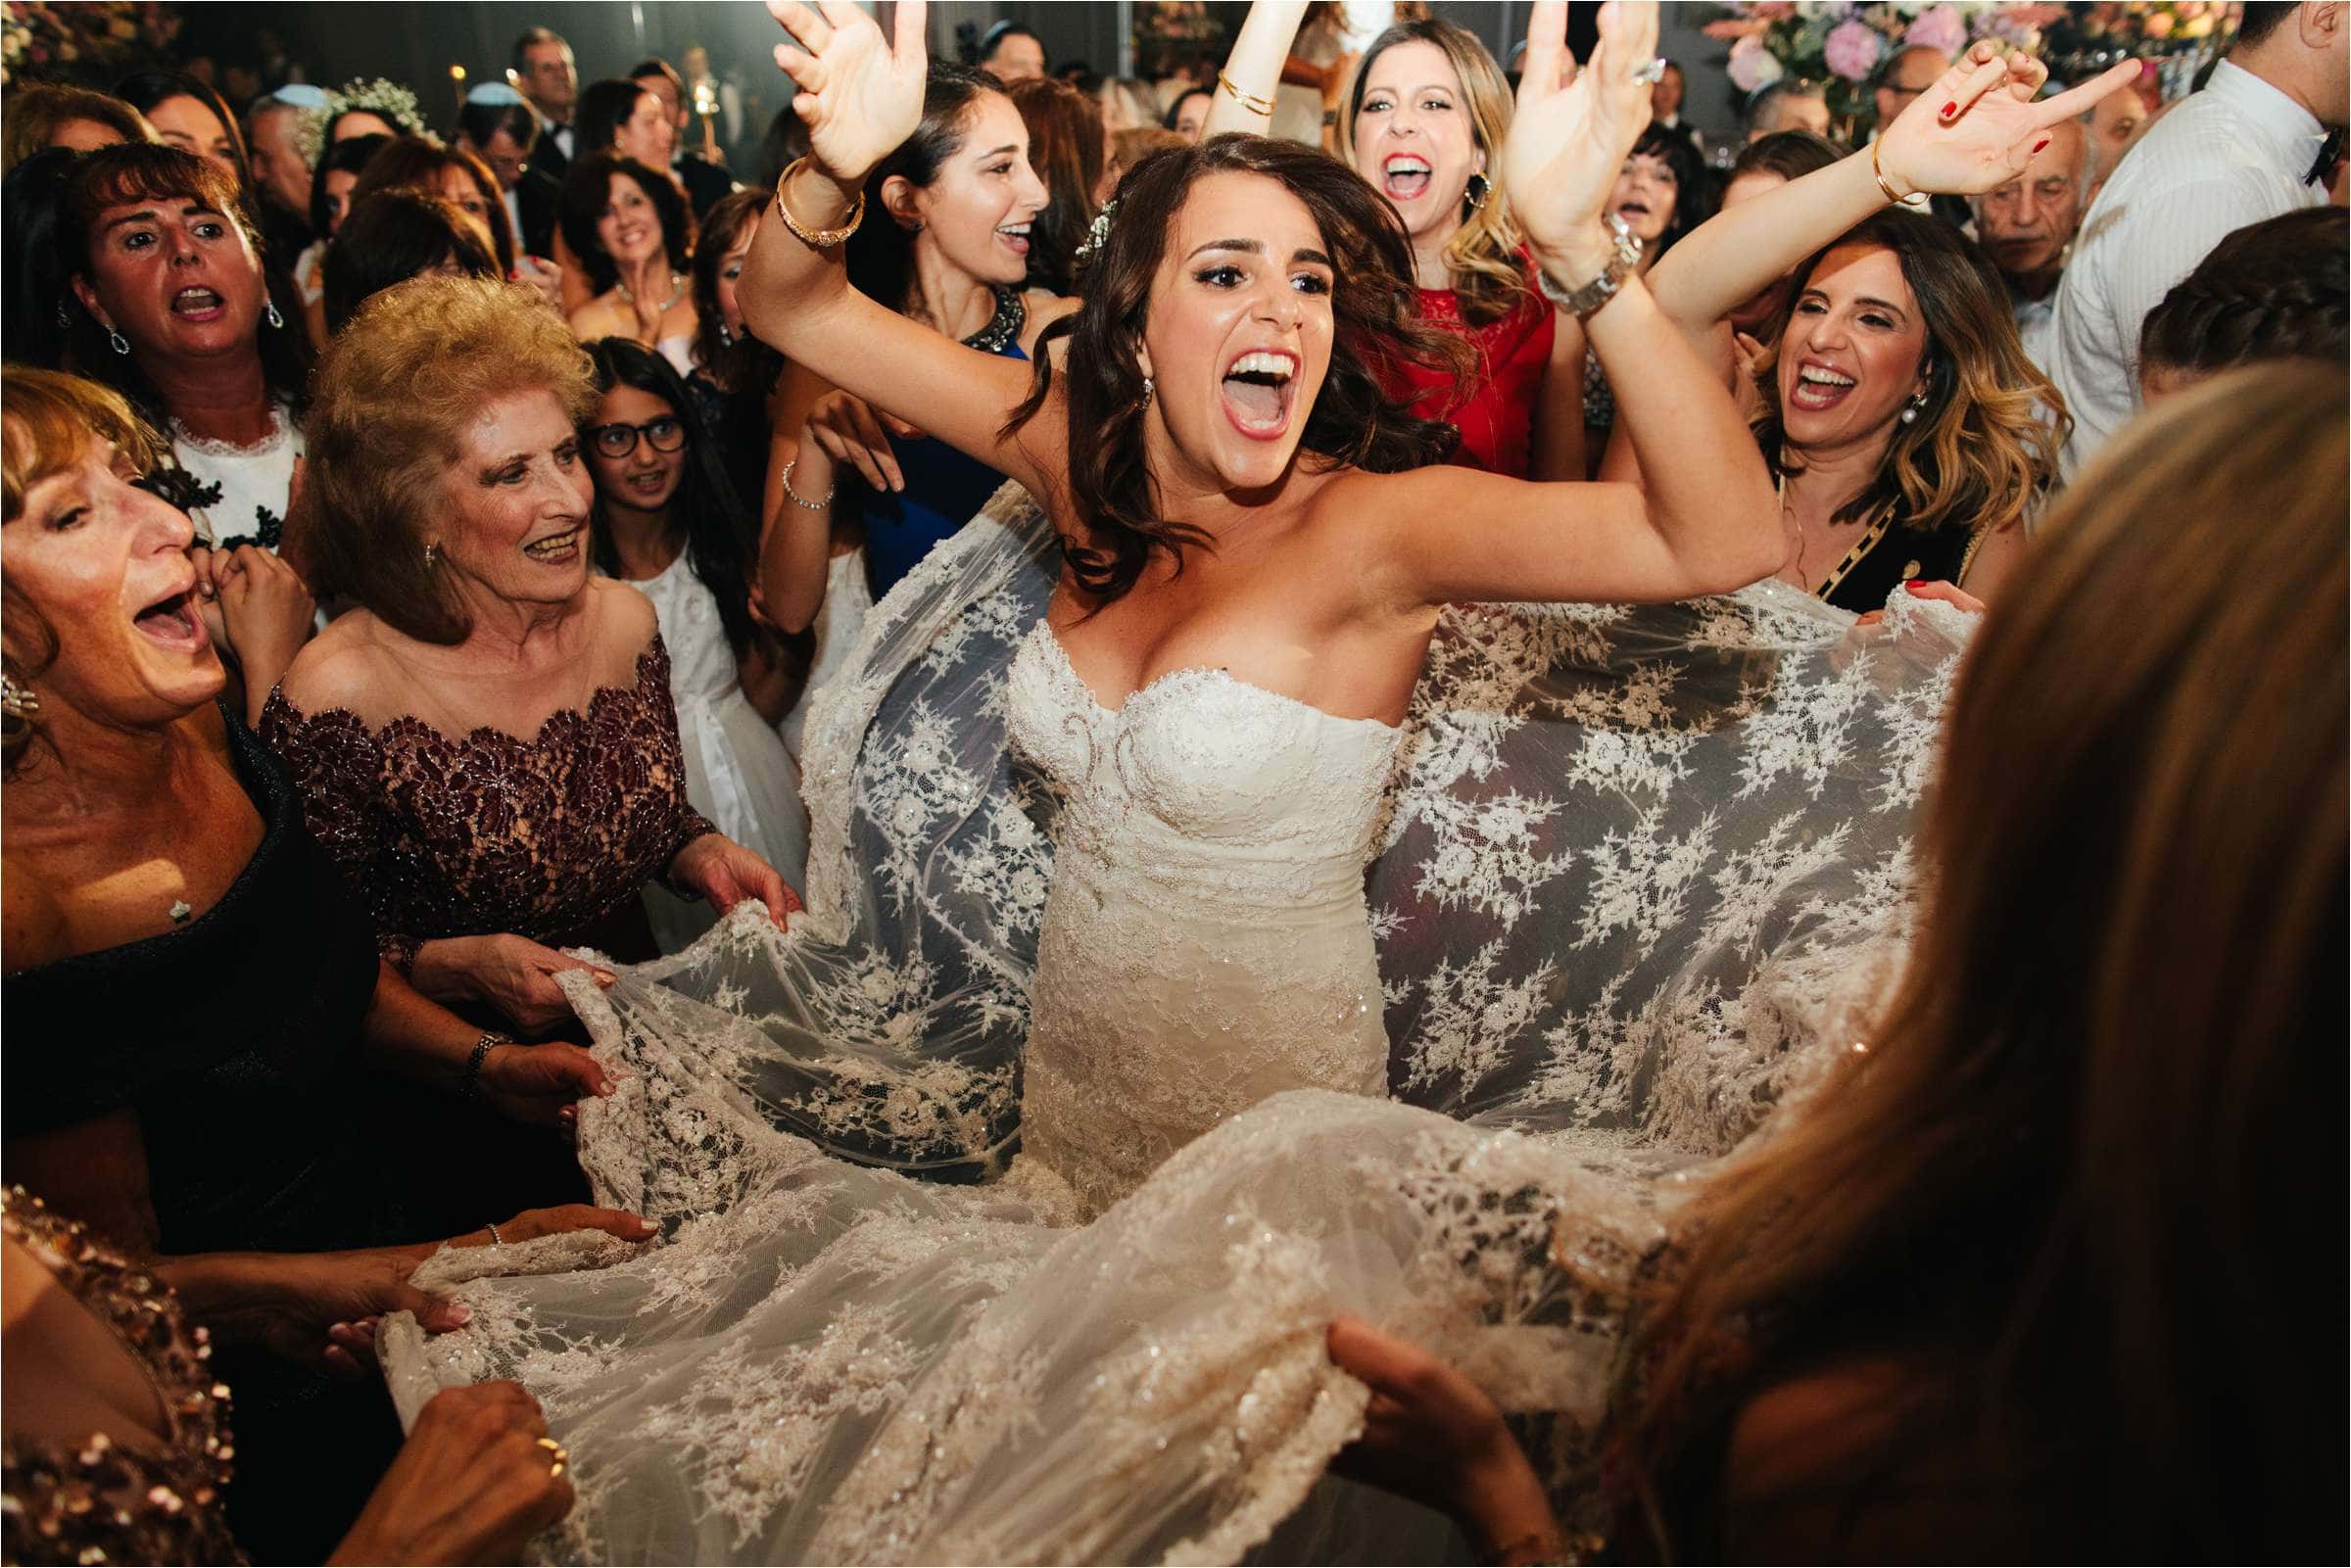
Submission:
[[[809,155],[842,186],[853,186],[922,125],[922,0],[898,0],[896,38],[882,40],[872,16],[849,0],[766,0],[769,14],[799,47],[776,45],[776,63],[799,92],[792,113],[809,125]]]

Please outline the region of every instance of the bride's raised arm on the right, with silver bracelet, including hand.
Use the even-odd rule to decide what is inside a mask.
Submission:
[[[1657,7],[1613,0],[1599,21],[1592,63],[1561,87],[1566,7],[1533,7],[1502,186],[1547,289],[1617,277],[1585,339],[1650,480],[1528,484],[1462,468],[1380,480],[1373,522],[1392,531],[1389,559],[1418,604],[1686,599],[1744,588],[1787,557],[1770,475],[1730,395],[1601,226],[1650,118]]]

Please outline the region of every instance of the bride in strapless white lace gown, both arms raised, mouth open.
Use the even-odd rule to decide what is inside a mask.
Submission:
[[[414,1410],[440,1382],[524,1380],[574,1455],[581,1507],[555,1547],[571,1556],[1230,1561],[1277,1526],[1281,1554],[1444,1552],[1432,1514],[1317,1486],[1366,1401],[1324,1326],[1366,1316],[1507,1408],[1570,1418],[1552,1458],[1575,1462],[1613,1354],[1594,1281],[1653,1241],[1653,1173],[1723,1152],[1801,1081],[1813,1058],[1787,1046],[1838,1030],[1806,964],[1897,926],[1886,882],[1949,675],[1944,607],[1895,616],[1878,651],[1841,649],[1838,611],[1768,585],[1674,607],[1665,630],[1615,609],[1444,609],[1688,599],[1782,555],[1754,527],[1775,510],[1728,395],[1596,237],[1648,118],[1634,68],[1653,7],[1603,12],[1566,89],[1549,87],[1561,7],[1538,9],[1502,160],[1559,282],[1625,273],[1589,341],[1643,362],[1622,378],[1646,407],[1627,407],[1634,440],[1676,435],[1643,454],[1646,491],[1366,470],[1427,456],[1361,369],[1375,334],[1425,343],[1401,228],[1338,165],[1246,139],[1128,176],[1067,374],[999,435],[1020,371],[853,296],[820,233],[919,118],[922,7],[898,7],[896,47],[849,5],[776,12],[804,45],[781,59],[816,162],[783,181],[790,226],[755,247],[755,327],[1044,508],[1006,491],[933,552],[818,703],[809,917],[781,938],[729,922],[574,992],[630,1074],[583,1107],[583,1166],[668,1246],[602,1272],[569,1241],[428,1265],[418,1281],[461,1286],[473,1324],[430,1345],[395,1324],[395,1394]],[[1065,564],[1039,621],[1030,569],[1053,534]],[[1641,670],[1643,639],[1674,651],[1669,672],[1610,670]],[[929,698],[973,668],[966,649],[980,675],[950,724]],[[1782,675],[1803,705],[1773,705]],[[1578,943],[1608,980],[1559,1023],[1559,1056],[1512,1048],[1535,1070],[1502,1110],[1625,1128],[1622,1157],[1601,1131],[1547,1145],[1375,1098],[1389,992],[1364,865],[1382,832],[1436,842],[1427,875],[1382,893],[1389,947],[1495,922],[1483,947],[1420,964],[1422,1011],[1446,1025],[1408,1081],[1448,1079],[1472,1110],[1486,1046],[1552,1006],[1538,994],[1573,992],[1547,959],[1500,990],[1488,973],[1516,940],[1512,889],[1568,860],[1538,853],[1547,802],[1462,785],[1509,759],[1521,703],[1613,743],[1566,769],[1596,788],[1594,820],[1632,804],[1613,849],[1578,851]],[[1700,769],[1744,778],[1756,811],[1669,823],[1672,783]],[[1857,820],[1789,842],[1806,799]],[[1763,802],[1770,825],[1723,827],[1766,823]],[[1653,851],[1681,870],[1608,865]],[[1883,877],[1876,856],[1895,856]],[[1011,957],[1023,933],[1034,985]],[[1665,983],[1639,1020],[1617,1001],[1629,980]],[[999,1182],[828,1152],[985,1168],[1006,1110],[1023,1159]],[[545,1272],[487,1276],[520,1269]]]

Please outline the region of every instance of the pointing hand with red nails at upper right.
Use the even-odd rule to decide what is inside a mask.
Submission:
[[[1904,195],[1996,190],[2024,174],[2052,125],[2088,113],[2137,73],[2139,61],[2123,61],[2036,103],[2048,66],[2027,54],[2003,59],[1996,42],[1980,38],[1886,127],[1876,148],[1878,172]]]

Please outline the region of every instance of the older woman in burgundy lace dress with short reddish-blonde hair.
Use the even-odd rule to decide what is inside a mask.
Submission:
[[[299,501],[362,609],[273,693],[263,738],[416,990],[562,1023],[562,945],[654,957],[661,877],[726,910],[799,900],[686,806],[654,607],[588,571],[574,433],[588,355],[510,284],[418,277],[320,364]]]

